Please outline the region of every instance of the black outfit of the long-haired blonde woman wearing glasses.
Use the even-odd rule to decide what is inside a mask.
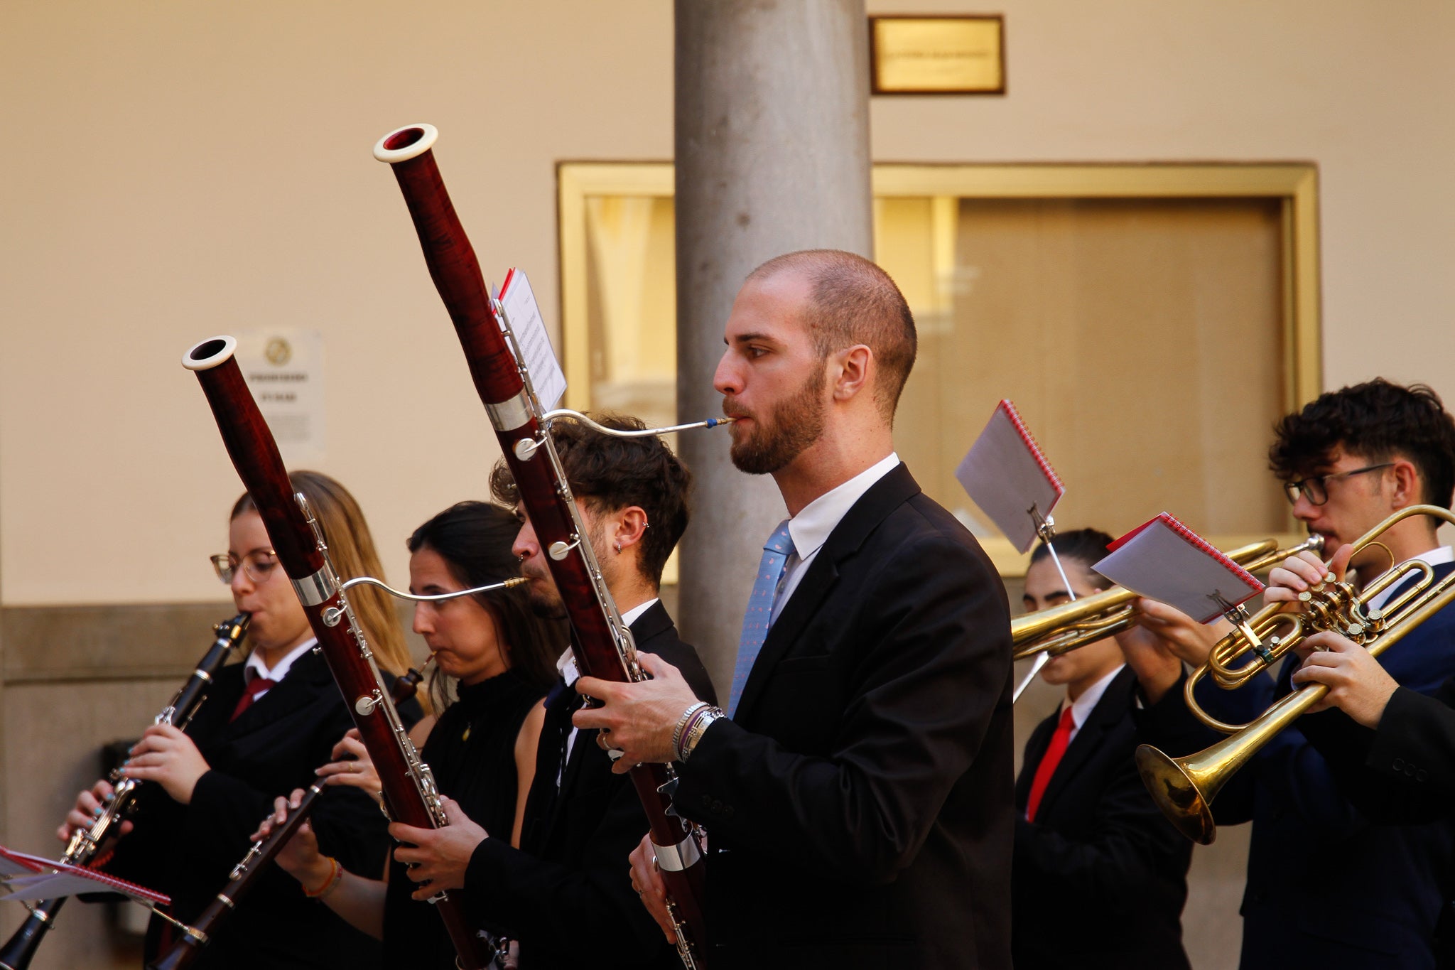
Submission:
[[[138,795],[137,827],[116,843],[106,871],[172,896],[172,915],[196,919],[228,881],[252,845],[249,836],[272,811],[274,798],[307,788],[314,769],[354,727],[323,657],[307,650],[287,675],[237,720],[243,668],[223,668],[208,700],[188,726],[210,771],[191,804],[147,784]],[[416,701],[400,707],[407,724],[420,717]],[[343,868],[377,878],[388,854],[387,822],[356,788],[329,787],[313,811],[319,848]],[[146,958],[175,934],[153,918]],[[265,873],[233,918],[201,951],[196,967],[377,967],[375,939],[354,929],[320,900],[307,899],[298,881],[276,867]]]

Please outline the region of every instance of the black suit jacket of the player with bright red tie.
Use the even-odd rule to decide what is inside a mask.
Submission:
[[[1122,669],[1067,747],[1036,809],[1026,801],[1058,714],[1026,743],[1016,779],[1016,970],[1186,969],[1181,909],[1192,842],[1136,772],[1136,673]]]

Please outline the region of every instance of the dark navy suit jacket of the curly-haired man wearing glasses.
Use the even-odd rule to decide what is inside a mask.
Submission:
[[[1455,566],[1433,569],[1439,579]],[[1455,673],[1455,609],[1427,620],[1379,662],[1406,688],[1433,694]],[[1197,700],[1224,721],[1253,720],[1292,689],[1298,665],[1289,656],[1276,681],[1257,676],[1237,691],[1202,684]],[[1372,822],[1304,736],[1308,720],[1270,740],[1212,803],[1219,826],[1253,823],[1243,970],[1435,967],[1436,925],[1455,893],[1455,825]],[[1139,711],[1139,727],[1158,746],[1161,737],[1180,739],[1173,742],[1180,750],[1164,749],[1174,756],[1224,737],[1193,718],[1181,684]]]

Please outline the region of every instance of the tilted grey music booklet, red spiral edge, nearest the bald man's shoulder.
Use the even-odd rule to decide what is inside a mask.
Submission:
[[[995,406],[954,477],[1021,553],[1036,541],[1030,508],[1049,516],[1067,492],[1010,401]]]

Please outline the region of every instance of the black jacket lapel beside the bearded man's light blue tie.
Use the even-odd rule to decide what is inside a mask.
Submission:
[[[918,493],[920,486],[909,476],[904,462],[899,462],[883,478],[872,484],[869,492],[861,494],[858,502],[840,519],[840,524],[834,526],[819,548],[818,556],[809,563],[797,589],[783,605],[778,620],[768,630],[758,659],[754,660],[752,670],[748,673],[748,682],[744,685],[733,720],[741,721],[752,713],[754,704],[773,676],[773,668],[797,641],[803,628],[813,620],[824,598],[838,582],[838,564],[858,551],[864,540],[879,528],[879,524],[890,512]]]

